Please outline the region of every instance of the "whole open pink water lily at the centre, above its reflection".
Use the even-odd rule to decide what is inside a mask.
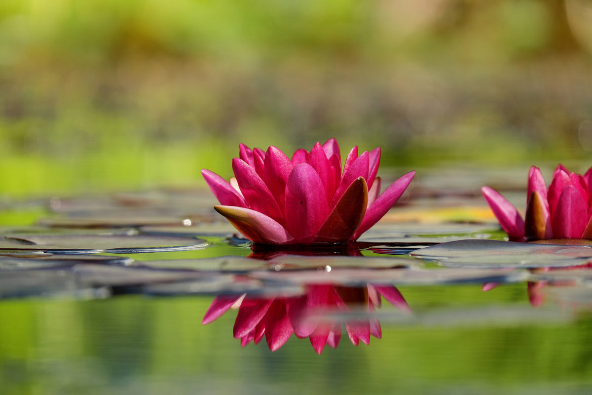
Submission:
[[[380,148],[358,155],[353,147],[342,171],[335,139],[298,149],[288,158],[276,147],[240,144],[230,182],[201,171],[226,217],[253,243],[311,245],[357,239],[394,205],[413,179],[409,172],[382,194]]]

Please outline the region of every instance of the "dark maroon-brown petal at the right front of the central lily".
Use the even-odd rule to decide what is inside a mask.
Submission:
[[[320,243],[348,242],[362,223],[367,205],[366,181],[362,177],[356,178],[327,216],[313,241]]]

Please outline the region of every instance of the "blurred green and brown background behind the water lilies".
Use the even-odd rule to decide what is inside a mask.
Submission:
[[[0,194],[202,185],[240,142],[329,137],[585,163],[591,26],[589,0],[2,0]]]

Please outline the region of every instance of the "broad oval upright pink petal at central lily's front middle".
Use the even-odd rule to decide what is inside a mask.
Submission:
[[[286,229],[298,243],[308,243],[329,215],[321,179],[308,163],[294,166],[286,184]]]

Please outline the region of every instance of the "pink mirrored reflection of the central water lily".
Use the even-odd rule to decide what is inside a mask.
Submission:
[[[251,341],[259,343],[265,336],[269,349],[276,351],[293,333],[297,338],[310,339],[314,350],[321,354],[325,345],[339,345],[344,325],[356,346],[359,342],[368,344],[371,335],[381,338],[380,323],[372,316],[381,307],[381,296],[397,309],[410,311],[403,295],[392,285],[314,284],[306,285],[305,292],[294,297],[217,296],[202,323],[213,322],[230,308],[238,309],[233,335],[240,339],[241,346]],[[337,318],[337,314],[350,317]]]

